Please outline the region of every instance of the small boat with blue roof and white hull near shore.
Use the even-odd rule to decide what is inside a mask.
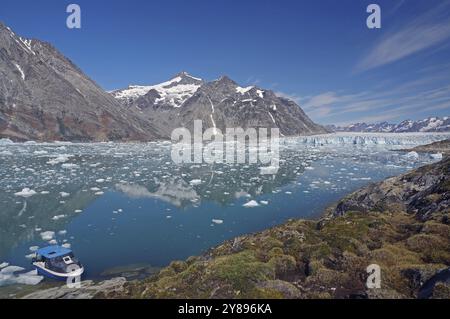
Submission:
[[[81,277],[84,267],[75,258],[72,250],[61,246],[38,249],[33,258],[33,266],[41,276],[64,280]]]

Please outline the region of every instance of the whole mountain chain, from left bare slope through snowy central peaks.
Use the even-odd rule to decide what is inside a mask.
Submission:
[[[0,138],[152,141],[202,120],[204,129],[278,127],[283,136],[328,132],[270,90],[186,72],[150,86],[105,92],[52,45],[0,23]]]

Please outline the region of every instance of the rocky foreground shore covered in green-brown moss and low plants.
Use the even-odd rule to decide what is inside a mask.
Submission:
[[[448,299],[450,140],[407,151],[444,156],[346,196],[319,220],[237,237],[146,279],[44,286],[15,297]],[[366,288],[371,264],[381,267],[381,289]]]

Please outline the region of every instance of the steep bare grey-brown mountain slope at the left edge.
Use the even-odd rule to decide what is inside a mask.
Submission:
[[[149,140],[158,137],[50,44],[0,24],[0,137]]]

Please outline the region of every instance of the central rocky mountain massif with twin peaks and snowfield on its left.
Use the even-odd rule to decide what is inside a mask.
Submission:
[[[204,129],[222,132],[233,127],[278,127],[284,136],[327,132],[293,101],[256,86],[242,87],[226,76],[205,82],[183,72],[162,84],[130,86],[112,94],[124,106],[138,108],[168,137],[174,128],[192,129],[195,120],[202,120]]]

